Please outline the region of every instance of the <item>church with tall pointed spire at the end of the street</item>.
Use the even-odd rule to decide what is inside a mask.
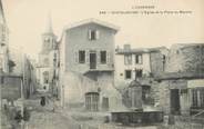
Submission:
[[[52,30],[51,17],[48,18],[45,31],[42,33],[42,49],[37,64],[39,91],[58,95],[59,49],[57,36]]]

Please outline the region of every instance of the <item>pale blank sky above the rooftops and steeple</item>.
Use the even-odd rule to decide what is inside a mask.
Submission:
[[[204,42],[203,0],[2,0],[10,30],[10,47],[23,48],[37,58],[42,47],[41,34],[51,13],[54,33],[83,19],[95,18],[120,27],[115,44],[132,48],[171,47],[173,43]],[[191,11],[176,14],[100,14],[100,11],[143,11],[136,6],[154,6],[153,10]],[[149,9],[147,9],[149,10]]]

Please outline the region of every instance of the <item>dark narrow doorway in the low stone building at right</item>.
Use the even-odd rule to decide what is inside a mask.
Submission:
[[[171,89],[171,113],[172,115],[180,115],[180,90],[178,89]]]

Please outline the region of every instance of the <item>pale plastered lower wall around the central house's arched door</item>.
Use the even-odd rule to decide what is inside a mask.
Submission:
[[[99,85],[83,75],[67,72],[64,76],[64,105],[70,108],[85,108],[85,93],[99,92],[99,110],[102,108],[104,98],[109,99],[109,110],[124,110],[121,93],[113,87],[113,83]],[[99,91],[100,88],[100,91]]]

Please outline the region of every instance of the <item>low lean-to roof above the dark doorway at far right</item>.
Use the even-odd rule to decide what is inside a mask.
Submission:
[[[176,79],[202,79],[204,72],[164,72],[155,77],[155,80],[176,80]]]

